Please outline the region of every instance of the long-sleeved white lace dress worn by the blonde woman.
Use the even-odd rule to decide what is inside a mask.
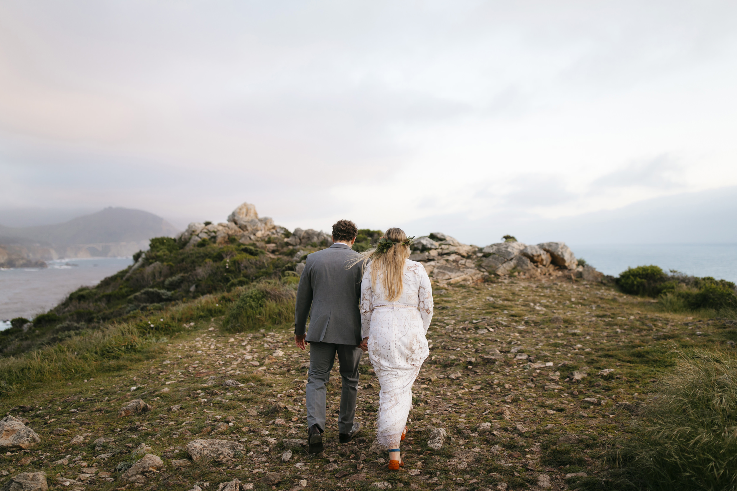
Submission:
[[[361,282],[361,324],[368,336],[368,359],[379,378],[377,438],[386,449],[399,439],[412,407],[412,384],[428,355],[425,333],[433,318],[433,290],[422,264],[405,260],[402,296],[388,302],[377,275],[371,288],[371,263]]]

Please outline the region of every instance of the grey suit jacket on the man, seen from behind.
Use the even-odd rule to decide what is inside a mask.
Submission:
[[[361,268],[346,270],[346,262],[358,253],[346,244],[335,243],[307,256],[297,289],[294,333],[304,334],[310,316],[308,342],[350,344],[361,342]],[[312,313],[310,313],[312,307]]]

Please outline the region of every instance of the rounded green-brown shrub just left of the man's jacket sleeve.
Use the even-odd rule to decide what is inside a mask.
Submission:
[[[296,288],[262,280],[246,288],[226,315],[223,327],[242,332],[294,321]]]

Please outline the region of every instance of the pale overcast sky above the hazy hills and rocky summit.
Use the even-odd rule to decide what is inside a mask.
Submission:
[[[460,231],[734,186],[736,25],[708,0],[5,0],[0,209]]]

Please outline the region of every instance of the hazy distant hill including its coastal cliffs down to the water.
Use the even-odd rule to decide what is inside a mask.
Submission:
[[[112,207],[54,225],[0,225],[0,268],[38,267],[60,258],[130,256],[147,249],[153,237],[177,233],[153,213]]]

